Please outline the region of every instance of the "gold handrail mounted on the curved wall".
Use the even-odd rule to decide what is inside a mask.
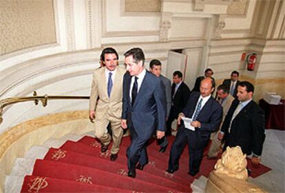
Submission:
[[[54,99],[89,99],[89,96],[48,96],[47,94],[43,96],[37,96],[36,91],[34,91],[33,96],[26,96],[26,97],[11,97],[7,99],[0,100],[0,124],[3,121],[2,114],[3,114],[3,108],[5,108],[8,105],[12,105],[14,103],[22,103],[26,101],[34,101],[35,105],[39,104],[39,100],[43,104],[43,107],[47,105],[47,99],[48,100],[54,100]]]

